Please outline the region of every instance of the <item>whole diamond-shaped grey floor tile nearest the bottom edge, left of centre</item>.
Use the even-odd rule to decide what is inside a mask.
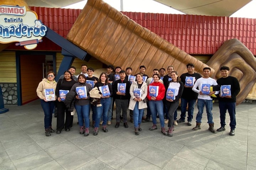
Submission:
[[[119,169],[122,165],[127,164],[134,156],[122,151],[121,149],[115,148],[97,159],[101,160],[103,163],[111,166],[113,169]]]

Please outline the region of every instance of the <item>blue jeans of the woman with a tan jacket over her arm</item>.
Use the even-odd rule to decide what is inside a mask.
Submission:
[[[101,98],[101,107],[96,108],[96,119],[95,119],[95,128],[99,127],[101,115],[103,115],[103,123],[102,125],[107,124],[107,115],[108,109],[110,108],[110,97],[108,98]]]

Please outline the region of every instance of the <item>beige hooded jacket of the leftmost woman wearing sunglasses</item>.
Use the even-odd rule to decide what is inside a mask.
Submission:
[[[44,89],[54,89],[54,92],[56,90],[56,85],[57,82],[55,80],[53,81],[48,81],[48,79],[44,78],[37,87],[37,96],[39,98],[41,98],[42,100],[44,100]],[[55,94],[55,98],[56,98],[56,94]]]

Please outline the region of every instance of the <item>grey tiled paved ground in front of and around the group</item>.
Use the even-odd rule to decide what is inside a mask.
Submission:
[[[10,111],[0,114],[1,170],[256,169],[256,104],[240,104],[236,108],[235,136],[228,135],[228,127],[212,134],[204,114],[201,130],[192,130],[195,120],[192,126],[180,123],[175,126],[173,137],[162,135],[160,124],[158,130],[149,131],[152,122],[142,123],[142,131],[136,136],[131,123],[127,129],[122,125],[114,128],[115,120],[107,126],[107,133],[100,129],[93,136],[90,128],[91,134],[84,137],[79,134],[76,116],[69,132],[46,137],[39,101],[6,107]],[[217,129],[218,104],[214,104],[213,114]],[[226,121],[229,124],[229,118]]]

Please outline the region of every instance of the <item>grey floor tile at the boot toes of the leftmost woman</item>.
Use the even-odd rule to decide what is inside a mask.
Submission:
[[[52,136],[48,136],[48,137],[45,136],[45,137],[46,137],[45,139],[36,142],[43,149],[47,149],[52,146],[58,145],[60,143],[66,142],[66,140],[63,137],[60,137],[57,134],[55,136],[52,135]]]

